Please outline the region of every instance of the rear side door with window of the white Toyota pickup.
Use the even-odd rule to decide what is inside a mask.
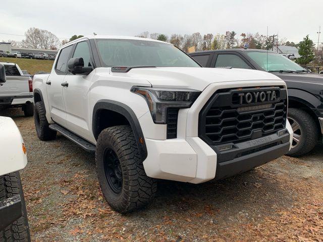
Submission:
[[[55,67],[46,81],[51,118],[63,127],[66,127],[66,109],[63,100],[62,83],[67,74],[67,62],[70,58],[72,48],[73,45],[70,45],[61,49]]]

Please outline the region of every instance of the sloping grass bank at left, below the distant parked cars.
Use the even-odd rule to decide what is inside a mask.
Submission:
[[[16,63],[21,70],[27,70],[31,75],[36,72],[50,72],[54,61],[47,59],[25,59],[0,57],[0,62]]]

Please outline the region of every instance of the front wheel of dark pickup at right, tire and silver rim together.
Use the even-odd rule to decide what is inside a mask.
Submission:
[[[317,144],[318,128],[311,115],[301,109],[289,108],[288,120],[293,129],[290,156],[300,156],[310,152]]]

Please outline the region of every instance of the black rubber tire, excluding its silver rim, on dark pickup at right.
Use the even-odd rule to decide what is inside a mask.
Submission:
[[[288,116],[295,119],[299,124],[301,141],[299,145],[292,148],[287,155],[297,157],[310,152],[317,144],[318,140],[318,128],[313,117],[306,111],[298,108],[289,108]]]

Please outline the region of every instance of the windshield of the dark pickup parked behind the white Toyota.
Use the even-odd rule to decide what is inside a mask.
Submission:
[[[302,72],[301,66],[297,65],[295,62],[291,61],[284,55],[272,53],[272,52],[259,52],[259,51],[247,51],[247,55],[255,63],[258,64],[263,70],[267,72],[279,72],[279,71],[299,71]],[[268,56],[267,56],[268,54]],[[268,59],[268,63],[267,63]]]

